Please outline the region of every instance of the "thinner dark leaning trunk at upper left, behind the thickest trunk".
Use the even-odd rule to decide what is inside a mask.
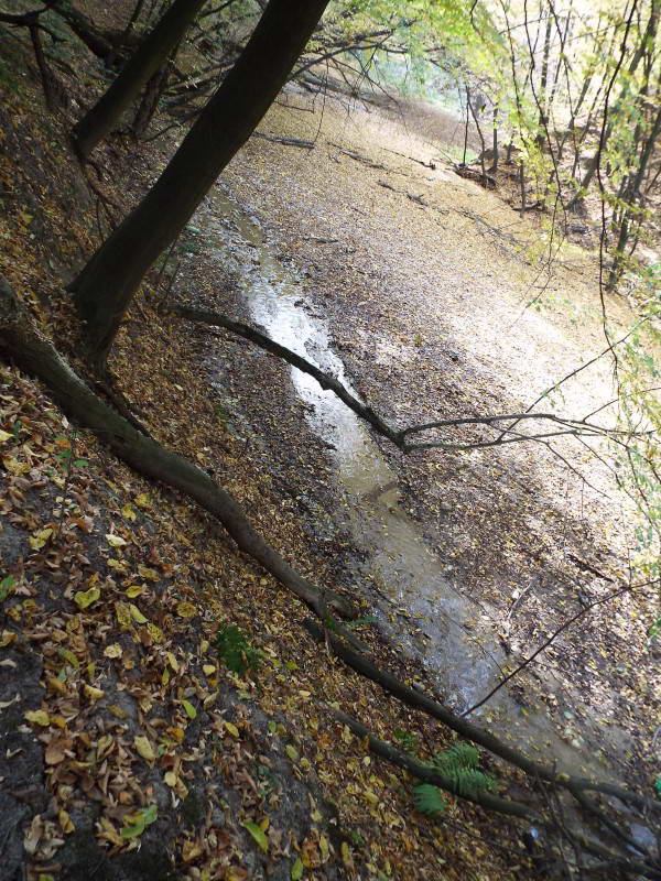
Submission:
[[[206,0],[174,0],[131,56],[110,88],[74,127],[74,144],[85,159],[117,124],[143,86],[163,66]]]

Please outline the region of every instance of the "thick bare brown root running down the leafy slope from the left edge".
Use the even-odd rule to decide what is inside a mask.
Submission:
[[[62,410],[90,428],[123,461],[147,477],[188,496],[219,520],[243,553],[262,565],[321,618],[327,617],[329,608],[346,618],[357,616],[353,603],[315,587],[294,572],[252,529],[232,497],[205,471],[142,434],[97,398],[53,344],[34,329],[29,314],[1,275],[0,349],[25,372],[41,379]]]

